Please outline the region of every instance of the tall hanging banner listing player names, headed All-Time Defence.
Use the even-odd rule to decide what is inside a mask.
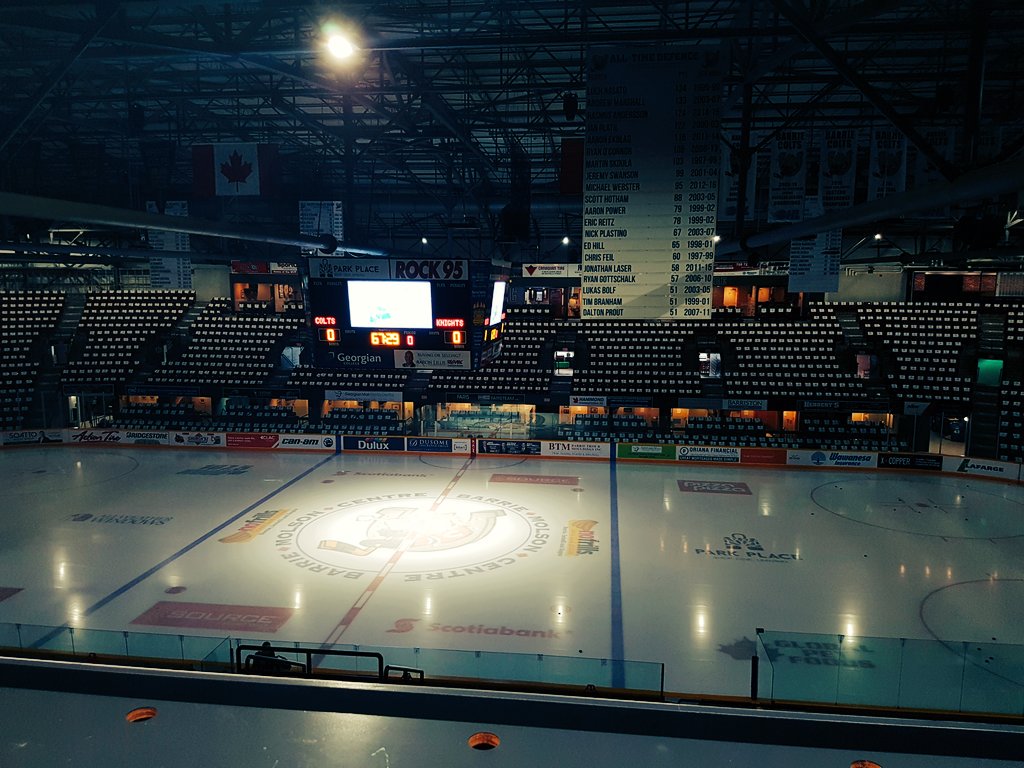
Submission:
[[[587,85],[581,316],[711,317],[717,51],[595,51]]]

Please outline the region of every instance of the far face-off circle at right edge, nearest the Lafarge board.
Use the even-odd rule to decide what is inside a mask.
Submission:
[[[863,525],[942,539],[1024,536],[1017,488],[952,478],[850,477],[826,482],[811,500],[826,512]]]

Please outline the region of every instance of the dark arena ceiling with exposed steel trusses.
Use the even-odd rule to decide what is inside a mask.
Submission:
[[[357,60],[331,60],[332,26]],[[426,237],[558,260],[581,223],[559,168],[562,142],[586,135],[588,51],[692,45],[727,61],[725,152],[743,154],[744,127],[757,159],[783,128],[893,125],[953,181],[1024,148],[1020,0],[6,2],[0,187],[139,210],[191,200],[194,145],[265,143],[273,196],[193,200],[193,215],[294,232],[298,200],[340,200],[352,245],[420,249]],[[933,129],[954,132],[951,159]],[[529,227],[510,238],[501,212],[523,196],[523,168]],[[1013,207],[968,203],[957,215]],[[8,218],[2,234],[60,223]],[[900,224],[920,228],[912,215]],[[765,226],[756,215],[742,233]],[[722,217],[719,230],[738,234]]]

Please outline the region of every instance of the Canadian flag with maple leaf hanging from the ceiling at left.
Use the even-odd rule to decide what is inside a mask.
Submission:
[[[198,198],[266,196],[276,160],[272,144],[224,143],[193,147],[193,188]]]

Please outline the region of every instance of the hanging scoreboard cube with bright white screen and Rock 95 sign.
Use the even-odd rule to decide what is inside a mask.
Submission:
[[[319,368],[479,368],[498,356],[505,281],[489,262],[309,259]]]

